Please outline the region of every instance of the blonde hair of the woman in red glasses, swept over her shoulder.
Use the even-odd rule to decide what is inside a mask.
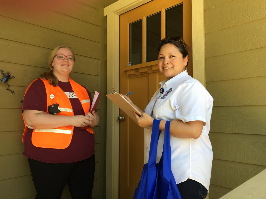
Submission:
[[[67,49],[69,49],[72,52],[73,57],[75,57],[75,54],[74,54],[73,49],[70,48],[69,46],[61,45],[61,46],[55,47],[52,50],[52,52],[50,54],[50,57],[49,57],[49,60],[48,60],[48,66],[49,66],[50,70],[47,71],[47,72],[44,72],[44,73],[40,74],[39,75],[39,79],[49,80],[49,84],[51,84],[53,86],[57,86],[58,85],[58,79],[53,74],[53,66],[52,66],[52,63],[53,63],[53,59],[54,59],[54,57],[56,55],[57,50],[59,50],[60,48],[67,48]]]

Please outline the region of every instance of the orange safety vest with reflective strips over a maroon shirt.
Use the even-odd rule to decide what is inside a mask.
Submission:
[[[57,113],[56,115],[73,116],[74,112],[73,112],[71,103],[68,97],[66,96],[66,94],[64,93],[64,91],[59,86],[55,87],[49,84],[48,80],[43,80],[43,82],[45,85],[46,95],[47,95],[47,107],[52,104],[50,95],[53,94],[55,96],[53,98],[53,103],[59,104],[59,109],[61,111],[60,113]],[[90,110],[90,98],[89,98],[87,90],[80,84],[73,81],[72,79],[69,79],[69,82],[70,82],[70,85],[74,93],[80,100],[84,113],[87,114]],[[28,88],[31,86],[31,84],[28,86]],[[26,89],[26,92],[28,88]],[[48,108],[46,110],[46,113],[49,114]],[[23,116],[23,113],[22,113],[22,116]],[[23,116],[23,120],[24,120],[24,116]],[[24,142],[24,136],[28,128],[33,128],[30,126],[27,126],[27,124],[25,123],[25,120],[24,120],[24,124],[25,124],[25,129],[24,129],[23,138],[22,138],[23,142]],[[59,128],[53,128],[53,129],[34,128],[32,132],[31,141],[32,141],[32,144],[36,147],[65,149],[69,146],[71,142],[72,135],[73,135],[73,129],[74,129],[74,126],[64,126],[64,127],[59,127]],[[89,131],[90,133],[93,133],[93,129],[90,127],[87,128],[86,130]]]

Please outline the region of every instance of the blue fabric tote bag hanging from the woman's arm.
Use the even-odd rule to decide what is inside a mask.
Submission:
[[[143,166],[142,176],[133,199],[182,199],[171,171],[170,121],[166,121],[164,147],[160,162],[156,163],[160,120],[153,120],[148,163]]]

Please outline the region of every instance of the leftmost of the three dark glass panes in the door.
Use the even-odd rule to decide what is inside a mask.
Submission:
[[[142,63],[142,19],[129,24],[129,66]]]

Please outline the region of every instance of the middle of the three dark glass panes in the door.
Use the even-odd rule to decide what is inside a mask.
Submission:
[[[161,12],[146,18],[146,62],[158,59],[157,46],[161,41]]]

